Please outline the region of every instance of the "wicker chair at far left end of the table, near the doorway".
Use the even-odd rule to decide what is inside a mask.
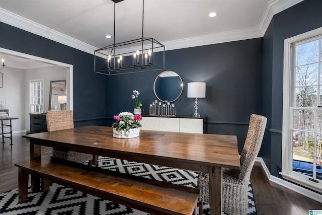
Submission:
[[[47,111],[46,120],[48,131],[64,130],[74,127],[72,110]],[[95,164],[95,156],[85,153],[52,149],[52,156],[77,163],[90,161],[90,165]]]

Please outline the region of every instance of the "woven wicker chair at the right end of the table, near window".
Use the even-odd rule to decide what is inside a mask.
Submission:
[[[252,114],[245,141],[240,155],[240,170],[222,168],[222,210],[230,215],[247,214],[247,187],[255,159],[262,145],[267,118]],[[209,174],[201,172],[198,177],[199,215],[202,202],[209,204]]]

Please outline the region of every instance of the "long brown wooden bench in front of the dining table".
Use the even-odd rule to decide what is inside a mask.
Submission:
[[[29,174],[151,214],[193,214],[199,189],[42,156],[16,163],[19,202],[27,201]],[[47,188],[46,188],[47,187]]]

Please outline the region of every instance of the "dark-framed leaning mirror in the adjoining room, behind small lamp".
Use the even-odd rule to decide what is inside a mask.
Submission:
[[[58,96],[64,96],[66,80],[51,81],[49,91],[49,110],[63,110],[64,104],[58,102]]]

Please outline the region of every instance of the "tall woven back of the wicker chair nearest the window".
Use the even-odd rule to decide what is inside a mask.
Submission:
[[[256,157],[262,145],[266,123],[267,118],[265,116],[251,115],[245,145],[240,154],[239,181],[248,183],[250,180]]]

